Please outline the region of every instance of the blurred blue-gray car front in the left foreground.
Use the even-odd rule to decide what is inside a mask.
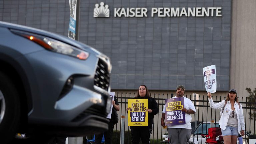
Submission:
[[[109,58],[67,37],[0,22],[0,141],[108,129]],[[25,133],[26,138],[14,138]],[[36,141],[36,142],[35,142]]]

